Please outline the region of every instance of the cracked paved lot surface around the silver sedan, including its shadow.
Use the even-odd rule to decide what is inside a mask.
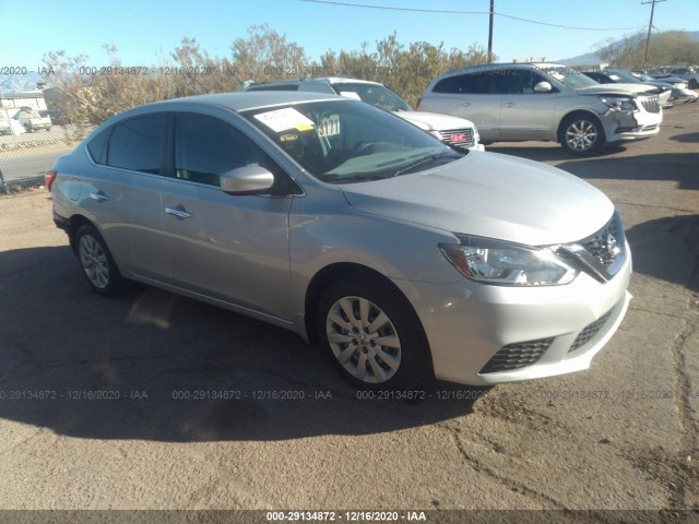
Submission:
[[[489,148],[612,198],[635,299],[587,372],[434,383],[418,405],[358,400],[291,332],[91,294],[47,193],[0,196],[0,509],[699,511],[698,117],[676,107],[655,139],[588,159]],[[229,390],[247,397],[206,398]]]

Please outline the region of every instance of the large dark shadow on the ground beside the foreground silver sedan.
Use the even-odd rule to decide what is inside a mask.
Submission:
[[[359,436],[466,415],[487,392],[357,392],[289,331],[150,287],[90,293],[68,247],[0,252],[0,417],[61,434]]]

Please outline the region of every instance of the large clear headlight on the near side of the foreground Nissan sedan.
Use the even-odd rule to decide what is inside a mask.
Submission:
[[[447,259],[469,278],[505,286],[556,286],[578,271],[546,248],[457,235],[461,243],[440,243]]]

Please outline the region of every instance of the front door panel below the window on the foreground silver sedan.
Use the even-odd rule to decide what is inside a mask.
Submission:
[[[176,179],[166,182],[163,229],[175,285],[292,319],[288,213],[293,199],[233,196],[216,187]]]

